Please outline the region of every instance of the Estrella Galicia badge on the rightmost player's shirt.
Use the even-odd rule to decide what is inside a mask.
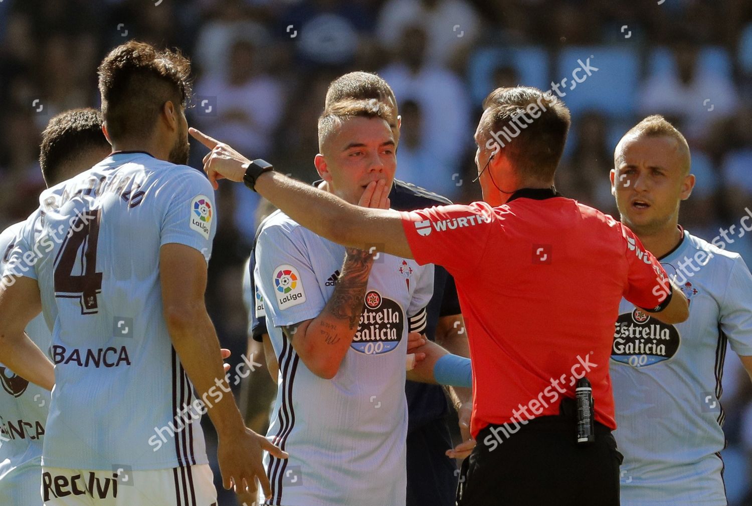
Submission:
[[[675,326],[635,308],[631,313],[620,314],[616,320],[611,359],[632,367],[653,365],[675,356],[680,341]]]

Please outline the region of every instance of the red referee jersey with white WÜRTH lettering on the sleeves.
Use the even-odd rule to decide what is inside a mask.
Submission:
[[[453,275],[473,364],[472,434],[559,413],[575,383],[593,384],[611,429],[608,359],[622,297],[656,310],[666,273],[626,226],[550,189],[402,212],[414,258]]]

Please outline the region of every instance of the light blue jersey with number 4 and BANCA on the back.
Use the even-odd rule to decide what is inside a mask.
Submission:
[[[6,271],[38,280],[56,386],[42,462],[92,470],[205,464],[193,385],[162,315],[159,250],[208,261],[217,221],[204,174],[113,153],[42,192]]]

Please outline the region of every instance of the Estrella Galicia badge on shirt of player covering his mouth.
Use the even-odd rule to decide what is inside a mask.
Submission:
[[[405,316],[399,304],[376,290],[368,290],[365,292],[365,306],[358,330],[350,347],[366,355],[387,353],[402,340],[403,329]]]

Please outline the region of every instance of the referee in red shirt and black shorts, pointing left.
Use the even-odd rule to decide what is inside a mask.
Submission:
[[[350,247],[443,265],[456,280],[475,404],[459,504],[619,504],[608,359],[622,297],[665,323],[687,299],[621,223],[553,189],[569,110],[529,87],[484,102],[475,162],[484,201],[423,211],[359,208],[250,161],[201,132],[209,179],[244,181],[293,220]],[[367,187],[386,201],[388,188]],[[575,388],[592,385],[594,441],[578,441]],[[587,392],[586,392],[587,393]],[[593,439],[593,438],[590,438]]]

